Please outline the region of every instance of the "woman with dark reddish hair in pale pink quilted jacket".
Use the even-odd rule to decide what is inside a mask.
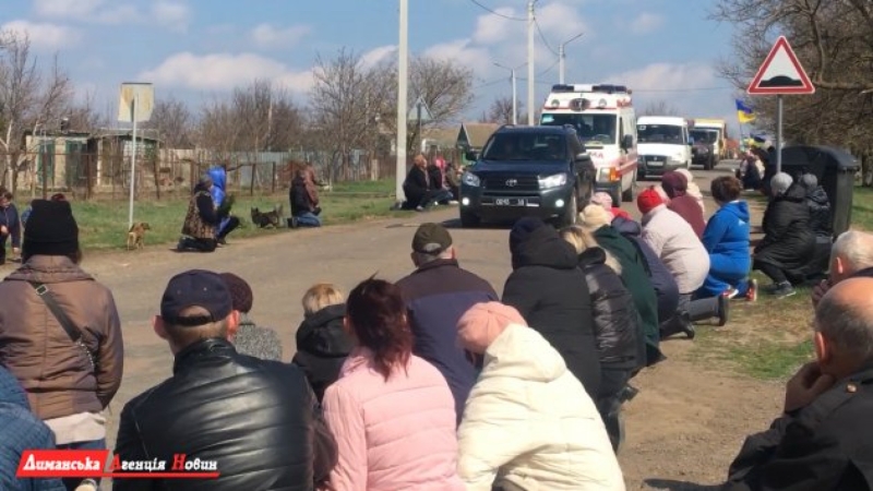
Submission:
[[[464,490],[455,402],[443,375],[412,355],[399,289],[370,278],[346,306],[345,328],[356,348],[323,403],[339,450],[332,489]]]

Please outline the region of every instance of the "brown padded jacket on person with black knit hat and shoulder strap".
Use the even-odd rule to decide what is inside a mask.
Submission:
[[[83,332],[96,374],[28,282],[46,284]],[[39,418],[104,409],[121,385],[123,359],[112,294],[70,259],[35,255],[0,282],[0,364],[19,379]]]

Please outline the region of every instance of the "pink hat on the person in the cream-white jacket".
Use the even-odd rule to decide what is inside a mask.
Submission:
[[[457,322],[457,338],[464,349],[481,355],[510,324],[527,325],[522,314],[510,306],[477,303]]]

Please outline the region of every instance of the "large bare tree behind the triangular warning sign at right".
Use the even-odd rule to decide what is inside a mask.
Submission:
[[[849,147],[873,183],[873,3],[869,0],[720,0],[710,17],[737,26],[721,76],[745,89],[777,35],[791,40],[816,93],[787,97],[785,136]],[[756,125],[773,130],[775,100],[754,100]]]

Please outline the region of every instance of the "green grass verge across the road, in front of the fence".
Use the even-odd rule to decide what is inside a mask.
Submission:
[[[390,209],[394,204],[394,180],[337,183],[333,191],[320,194],[324,225],[337,225],[396,215]],[[282,229],[261,229],[252,226],[251,207],[262,212],[283,205],[285,216],[288,209],[287,191],[282,194],[248,196],[244,191],[231,191],[237,200],[234,214],[240,217],[243,226],[235,230],[231,238],[244,238],[277,233]],[[134,220],[147,221],[152,227],[146,238],[147,244],[169,244],[179,240],[188,197],[167,197],[162,201],[142,199],[134,204]],[[82,248],[86,251],[118,250],[125,247],[128,230],[128,202],[73,202],[73,213],[80,228]]]

